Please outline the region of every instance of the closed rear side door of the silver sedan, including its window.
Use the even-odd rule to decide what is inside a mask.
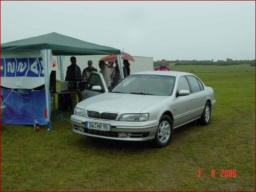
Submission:
[[[200,117],[204,111],[204,105],[206,100],[206,94],[204,94],[203,83],[196,78],[195,76],[187,76],[190,87],[191,87],[191,96],[193,98],[193,108],[195,113],[193,118]]]

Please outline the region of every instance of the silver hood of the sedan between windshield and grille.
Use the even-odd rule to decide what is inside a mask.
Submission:
[[[76,107],[84,110],[141,113],[146,107],[167,99],[168,97],[169,96],[102,93],[78,103]]]

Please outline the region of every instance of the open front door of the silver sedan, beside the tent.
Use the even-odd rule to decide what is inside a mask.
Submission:
[[[101,90],[92,90],[92,87],[94,86],[100,86]],[[94,97],[98,94],[106,93],[106,92],[108,92],[108,88],[106,86],[106,83],[103,79],[102,74],[95,71],[92,72],[86,83],[83,100]]]

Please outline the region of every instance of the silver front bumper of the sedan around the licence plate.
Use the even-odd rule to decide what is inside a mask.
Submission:
[[[109,124],[110,131],[99,131],[85,128],[85,122]],[[77,134],[104,139],[123,141],[146,141],[155,138],[159,122],[121,122],[91,119],[78,115],[71,116],[73,131]],[[83,131],[80,129],[83,128]],[[127,133],[126,137],[118,137],[118,133]]]

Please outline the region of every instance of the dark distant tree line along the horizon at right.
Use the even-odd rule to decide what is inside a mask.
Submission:
[[[176,61],[166,61],[166,64],[169,63],[175,63],[175,65],[246,65],[249,64],[251,66],[255,66],[255,59],[253,60],[232,60],[231,58],[227,58],[226,61],[223,60],[217,60],[217,62],[214,62],[213,59],[210,60],[203,60],[203,61],[197,61],[197,60],[176,60]],[[161,61],[154,62],[154,66],[160,66]]]

